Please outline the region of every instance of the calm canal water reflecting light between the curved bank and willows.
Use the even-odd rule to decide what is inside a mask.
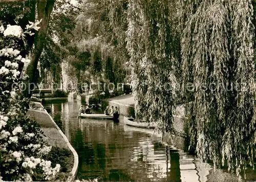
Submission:
[[[236,176],[213,170],[180,150],[181,138],[174,138],[168,145],[153,130],[124,125],[122,117],[119,123],[76,119],[80,105],[80,101],[71,99],[45,104],[51,106],[50,114],[78,153],[78,179],[238,181]],[[253,172],[247,180],[256,180]]]

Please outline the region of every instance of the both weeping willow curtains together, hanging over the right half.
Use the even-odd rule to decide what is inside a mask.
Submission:
[[[175,85],[183,83],[190,149],[237,174],[247,160],[253,166],[255,5],[131,0],[128,6],[136,117],[172,132],[176,96],[183,99]]]

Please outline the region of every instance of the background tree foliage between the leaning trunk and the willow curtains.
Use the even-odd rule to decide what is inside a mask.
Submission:
[[[62,79],[79,93],[82,83],[130,81],[126,9],[127,1],[56,1],[39,58],[42,81]]]

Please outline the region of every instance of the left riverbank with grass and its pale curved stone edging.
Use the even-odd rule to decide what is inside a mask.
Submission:
[[[39,102],[34,102],[34,104],[37,108],[43,108]],[[45,134],[44,140],[48,145],[53,146],[53,153],[50,157],[54,160],[57,158],[57,162],[62,166],[59,180],[74,181],[78,169],[78,155],[65,134],[45,109],[29,109],[27,116],[38,123]]]

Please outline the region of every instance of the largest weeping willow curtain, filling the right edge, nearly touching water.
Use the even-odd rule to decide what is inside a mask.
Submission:
[[[203,161],[241,173],[256,143],[255,3],[180,1],[190,147]]]

